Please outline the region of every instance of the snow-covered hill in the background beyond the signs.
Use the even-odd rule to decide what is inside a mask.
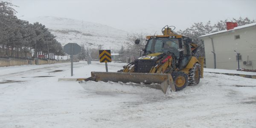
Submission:
[[[120,49],[125,44],[128,32],[100,23],[86,22],[63,17],[36,17],[29,22],[44,24],[62,45],[67,43],[85,44],[85,47]]]

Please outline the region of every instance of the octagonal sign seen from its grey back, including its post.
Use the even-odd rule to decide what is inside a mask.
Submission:
[[[81,52],[81,47],[76,43],[68,43],[64,45],[63,51],[70,55],[71,61],[71,76],[73,76],[73,55],[76,55]]]

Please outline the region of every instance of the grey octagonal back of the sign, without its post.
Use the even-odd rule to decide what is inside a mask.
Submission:
[[[73,47],[73,49],[72,49],[72,47]],[[76,43],[68,43],[68,44],[64,45],[63,51],[65,53],[67,53],[68,55],[71,55],[72,54],[71,52],[73,51],[73,55],[76,55],[81,52],[81,47]]]

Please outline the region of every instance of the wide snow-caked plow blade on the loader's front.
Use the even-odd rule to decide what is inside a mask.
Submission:
[[[171,74],[163,73],[115,73],[115,72],[91,72],[91,77],[85,81],[112,81],[123,83],[137,83],[144,87],[160,89],[166,93],[168,85],[171,85],[172,91],[175,91],[175,85]],[[154,83],[154,84],[152,84]]]

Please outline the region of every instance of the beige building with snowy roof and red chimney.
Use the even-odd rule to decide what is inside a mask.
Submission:
[[[207,68],[236,70],[238,58],[240,69],[256,68],[256,23],[237,26],[227,22],[226,30],[199,38],[204,41]]]

